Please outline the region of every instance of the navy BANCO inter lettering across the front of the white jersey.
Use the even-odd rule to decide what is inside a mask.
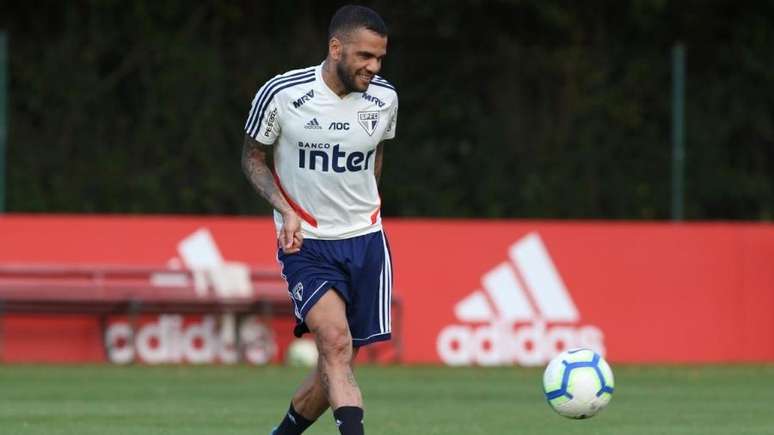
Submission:
[[[340,144],[298,142],[298,167],[322,172],[365,171],[373,153],[340,151]]]

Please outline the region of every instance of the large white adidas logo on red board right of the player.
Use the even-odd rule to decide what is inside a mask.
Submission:
[[[508,250],[508,260],[481,278],[483,289],[458,302],[436,348],[449,365],[542,365],[571,347],[604,355],[599,328],[578,325],[578,308],[537,233]]]

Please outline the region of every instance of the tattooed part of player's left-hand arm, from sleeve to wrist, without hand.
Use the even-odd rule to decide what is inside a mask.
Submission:
[[[245,135],[242,146],[242,171],[247,176],[250,184],[266,201],[280,213],[291,210],[290,205],[282,196],[282,193],[274,182],[272,169],[274,167],[274,149],[272,146],[263,145]]]

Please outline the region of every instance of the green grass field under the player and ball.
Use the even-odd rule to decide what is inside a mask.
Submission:
[[[614,367],[610,406],[555,414],[540,370],[360,367],[366,433],[774,434],[774,366]],[[0,434],[258,434],[304,371],[0,365]],[[330,413],[306,433],[337,434]]]

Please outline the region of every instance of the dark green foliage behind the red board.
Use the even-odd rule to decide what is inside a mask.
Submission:
[[[369,1],[399,90],[389,216],[665,219],[671,47],[686,216],[774,218],[774,3]],[[258,86],[319,63],[340,2],[2,2],[12,212],[264,214]]]

